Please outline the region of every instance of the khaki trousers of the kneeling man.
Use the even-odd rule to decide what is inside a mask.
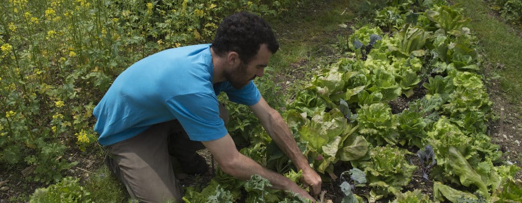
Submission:
[[[219,105],[219,112],[227,122],[227,109]],[[169,153],[190,160],[204,148],[201,142],[189,140],[180,123],[172,120],[108,146],[110,158],[105,164],[121,179],[129,195],[140,202],[183,202]]]

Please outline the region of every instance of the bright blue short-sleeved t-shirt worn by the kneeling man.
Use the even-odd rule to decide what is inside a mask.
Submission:
[[[261,95],[251,81],[235,89],[228,81],[212,84],[210,44],[168,49],[131,65],[113,82],[92,114],[98,142],[111,145],[156,123],[177,119],[195,141],[227,134],[219,117],[220,92],[234,103],[252,106]]]

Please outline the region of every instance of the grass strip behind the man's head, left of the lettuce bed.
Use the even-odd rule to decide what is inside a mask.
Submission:
[[[311,3],[267,19],[280,44],[279,51],[270,60],[271,74],[291,81],[282,92],[283,99],[289,100],[292,94],[302,91],[306,81],[315,74],[315,67],[339,58],[341,53],[335,51],[333,44],[337,42],[336,35],[347,35],[350,31],[339,25],[355,19],[354,2],[361,1]],[[292,80],[295,77],[296,80]]]

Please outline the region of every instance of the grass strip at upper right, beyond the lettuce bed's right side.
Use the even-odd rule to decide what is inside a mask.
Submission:
[[[479,39],[485,57],[493,64],[505,67],[497,70],[500,86],[508,101],[522,113],[522,40],[517,31],[505,22],[492,16],[493,11],[487,3],[479,0],[455,0],[464,14],[472,19],[470,29]]]

